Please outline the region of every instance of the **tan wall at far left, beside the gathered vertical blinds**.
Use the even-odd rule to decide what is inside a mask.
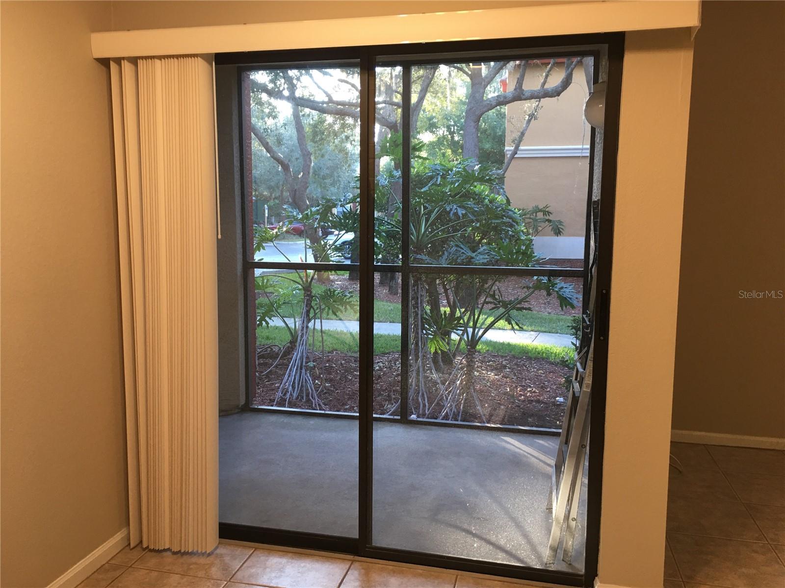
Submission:
[[[2,586],[126,526],[108,3],[2,2]]]

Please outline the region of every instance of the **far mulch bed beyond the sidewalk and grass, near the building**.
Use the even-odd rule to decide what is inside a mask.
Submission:
[[[550,265],[557,267],[581,267],[582,260],[549,260]],[[374,276],[374,298],[377,300],[385,300],[386,302],[400,303],[400,282],[396,286],[393,293],[389,292],[387,285],[379,284],[380,274]],[[556,296],[546,296],[542,292],[535,292],[530,299],[528,299],[528,307],[537,312],[545,312],[548,314],[563,314],[565,316],[572,316],[581,313],[581,293],[583,287],[583,280],[581,278],[559,278],[561,281],[571,284],[578,293],[578,303],[575,308],[565,308],[564,310],[559,307],[559,301]],[[522,289],[521,285],[528,284],[530,278],[517,278],[510,277],[504,281],[499,282],[498,287],[502,291],[502,295],[508,299],[515,299],[520,296]],[[360,292],[360,282],[350,281],[349,276],[330,274],[330,287],[345,290],[347,292]],[[446,303],[444,299],[441,301]]]

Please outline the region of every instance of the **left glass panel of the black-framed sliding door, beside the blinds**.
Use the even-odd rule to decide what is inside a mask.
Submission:
[[[358,65],[239,74],[253,412],[222,427],[221,521],[357,536]]]

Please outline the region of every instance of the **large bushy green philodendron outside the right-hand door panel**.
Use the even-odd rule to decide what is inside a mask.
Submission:
[[[380,180],[378,189],[390,181]],[[535,266],[539,258],[534,236],[546,229],[558,236],[564,225],[551,218],[548,206],[513,207],[502,181],[497,169],[473,160],[415,161],[409,215],[411,263]],[[399,220],[398,210],[385,216],[383,224],[389,230],[382,234],[400,235]],[[493,270],[487,274],[412,272],[408,400],[415,415],[459,420],[471,402],[484,420],[475,393],[476,354],[491,328],[499,323],[521,328],[516,314],[531,310],[527,302],[535,292],[557,296],[562,308],[575,307],[575,291],[563,281],[516,281],[514,293],[501,288],[505,281]]]

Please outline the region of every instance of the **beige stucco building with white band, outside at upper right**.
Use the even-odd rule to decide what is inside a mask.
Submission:
[[[547,61],[530,64],[525,88],[536,88]],[[509,83],[517,79],[518,67],[508,73]],[[554,67],[547,85],[564,76],[564,63]],[[550,205],[552,218],[564,222],[564,234],[555,237],[544,230],[535,238],[535,250],[555,259],[583,256],[586,232],[586,193],[589,183],[591,127],[583,118],[583,104],[589,96],[582,64],[575,68],[572,83],[557,98],[546,98],[531,122],[520,149],[506,173],[505,187],[513,205],[528,208]],[[506,154],[513,149],[520,129],[535,101],[513,102],[507,106]]]

